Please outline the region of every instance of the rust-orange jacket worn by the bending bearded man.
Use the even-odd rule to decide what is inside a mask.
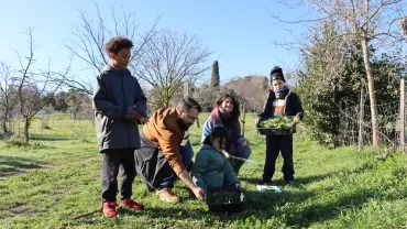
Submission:
[[[143,133],[158,148],[169,166],[178,175],[185,170],[183,155],[179,153],[185,131],[179,128],[177,121],[178,115],[175,108],[158,109],[143,126]]]

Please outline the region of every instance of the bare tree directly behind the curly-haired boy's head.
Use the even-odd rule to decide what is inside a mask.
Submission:
[[[135,45],[132,50],[131,62],[134,62],[139,57],[140,52],[142,52],[144,44],[156,34],[154,30],[158,19],[146,32],[139,32],[140,23],[133,12],[127,11],[119,6],[121,9],[120,13],[117,13],[113,7],[110,8],[110,13],[105,13],[99,10],[96,2],[94,2],[94,7],[96,19],[90,18],[87,11],[79,10],[80,22],[73,25],[72,37],[64,45],[72,53],[73,58],[79,59],[85,64],[86,69],[92,70],[94,74],[99,73],[103,65],[109,64],[105,44],[111,37],[122,35],[133,41]],[[134,69],[130,70],[134,72]],[[57,75],[54,80],[63,86],[92,95],[92,76]]]

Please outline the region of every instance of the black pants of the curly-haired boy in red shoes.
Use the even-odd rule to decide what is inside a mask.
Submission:
[[[120,175],[120,199],[130,198],[135,177],[134,149],[105,150],[102,154],[102,201],[116,201],[118,175]]]

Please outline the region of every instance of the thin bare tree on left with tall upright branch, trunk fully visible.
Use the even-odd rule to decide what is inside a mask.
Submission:
[[[32,28],[26,28],[25,34],[28,35],[29,52],[24,57],[15,50],[19,62],[19,70],[15,80],[15,92],[18,98],[18,108],[21,117],[23,118],[24,128],[22,139],[25,142],[30,141],[29,129],[33,117],[48,103],[47,99],[42,99],[46,92],[48,95],[55,94],[61,84],[52,84],[53,73],[48,68],[46,70],[38,70],[34,67],[35,58],[34,51],[36,48],[33,40]],[[25,61],[24,61],[25,59]],[[65,77],[69,73],[69,67],[64,72],[55,73],[61,77]]]

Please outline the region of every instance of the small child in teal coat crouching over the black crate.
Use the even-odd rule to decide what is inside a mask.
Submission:
[[[213,131],[205,139],[202,148],[195,157],[191,171],[193,179],[197,186],[204,189],[226,185],[235,185],[237,188],[242,188],[232,165],[222,153],[228,139],[229,133],[222,127],[213,128]]]

